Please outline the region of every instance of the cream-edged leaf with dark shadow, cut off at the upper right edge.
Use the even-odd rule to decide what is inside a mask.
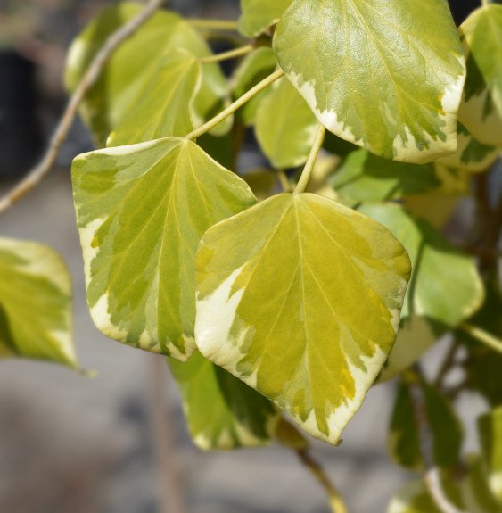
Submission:
[[[485,145],[502,146],[502,5],[484,5],[460,27],[467,80],[458,119]]]

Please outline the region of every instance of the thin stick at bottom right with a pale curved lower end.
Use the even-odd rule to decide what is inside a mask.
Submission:
[[[415,413],[416,425],[418,427],[420,439],[420,451],[424,459],[425,473],[424,481],[427,490],[431,494],[432,500],[442,513],[465,513],[453,504],[447,494],[444,492],[440,481],[440,470],[434,465],[432,457],[432,434],[427,418],[427,410],[425,406],[424,391],[418,385],[421,379],[419,370],[410,371],[410,376],[407,378],[407,383],[410,387],[411,400],[413,403],[413,410]]]

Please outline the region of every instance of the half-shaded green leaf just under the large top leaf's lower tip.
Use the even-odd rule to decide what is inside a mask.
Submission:
[[[432,164],[388,161],[359,149],[349,153],[331,184],[343,200],[363,203],[423,194],[440,186],[440,181]]]

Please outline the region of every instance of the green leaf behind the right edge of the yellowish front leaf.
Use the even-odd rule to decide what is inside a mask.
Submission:
[[[360,211],[389,228],[412,261],[402,319],[415,314],[455,327],[481,307],[483,285],[473,258],[429,223],[398,205],[364,205]]]

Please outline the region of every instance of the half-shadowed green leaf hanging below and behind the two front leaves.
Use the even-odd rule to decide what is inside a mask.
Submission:
[[[257,447],[270,442],[278,415],[263,395],[200,352],[186,363],[169,360],[193,442],[203,450]]]

